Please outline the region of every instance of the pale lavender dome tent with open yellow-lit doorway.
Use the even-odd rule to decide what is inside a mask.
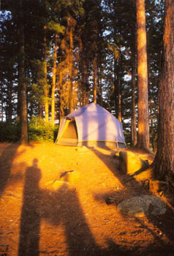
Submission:
[[[125,148],[122,124],[105,108],[91,103],[61,119],[56,144]]]

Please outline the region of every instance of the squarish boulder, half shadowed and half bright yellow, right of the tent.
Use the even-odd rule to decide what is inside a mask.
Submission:
[[[123,174],[135,174],[148,169],[148,161],[144,161],[132,152],[121,151],[119,154],[118,169]]]

